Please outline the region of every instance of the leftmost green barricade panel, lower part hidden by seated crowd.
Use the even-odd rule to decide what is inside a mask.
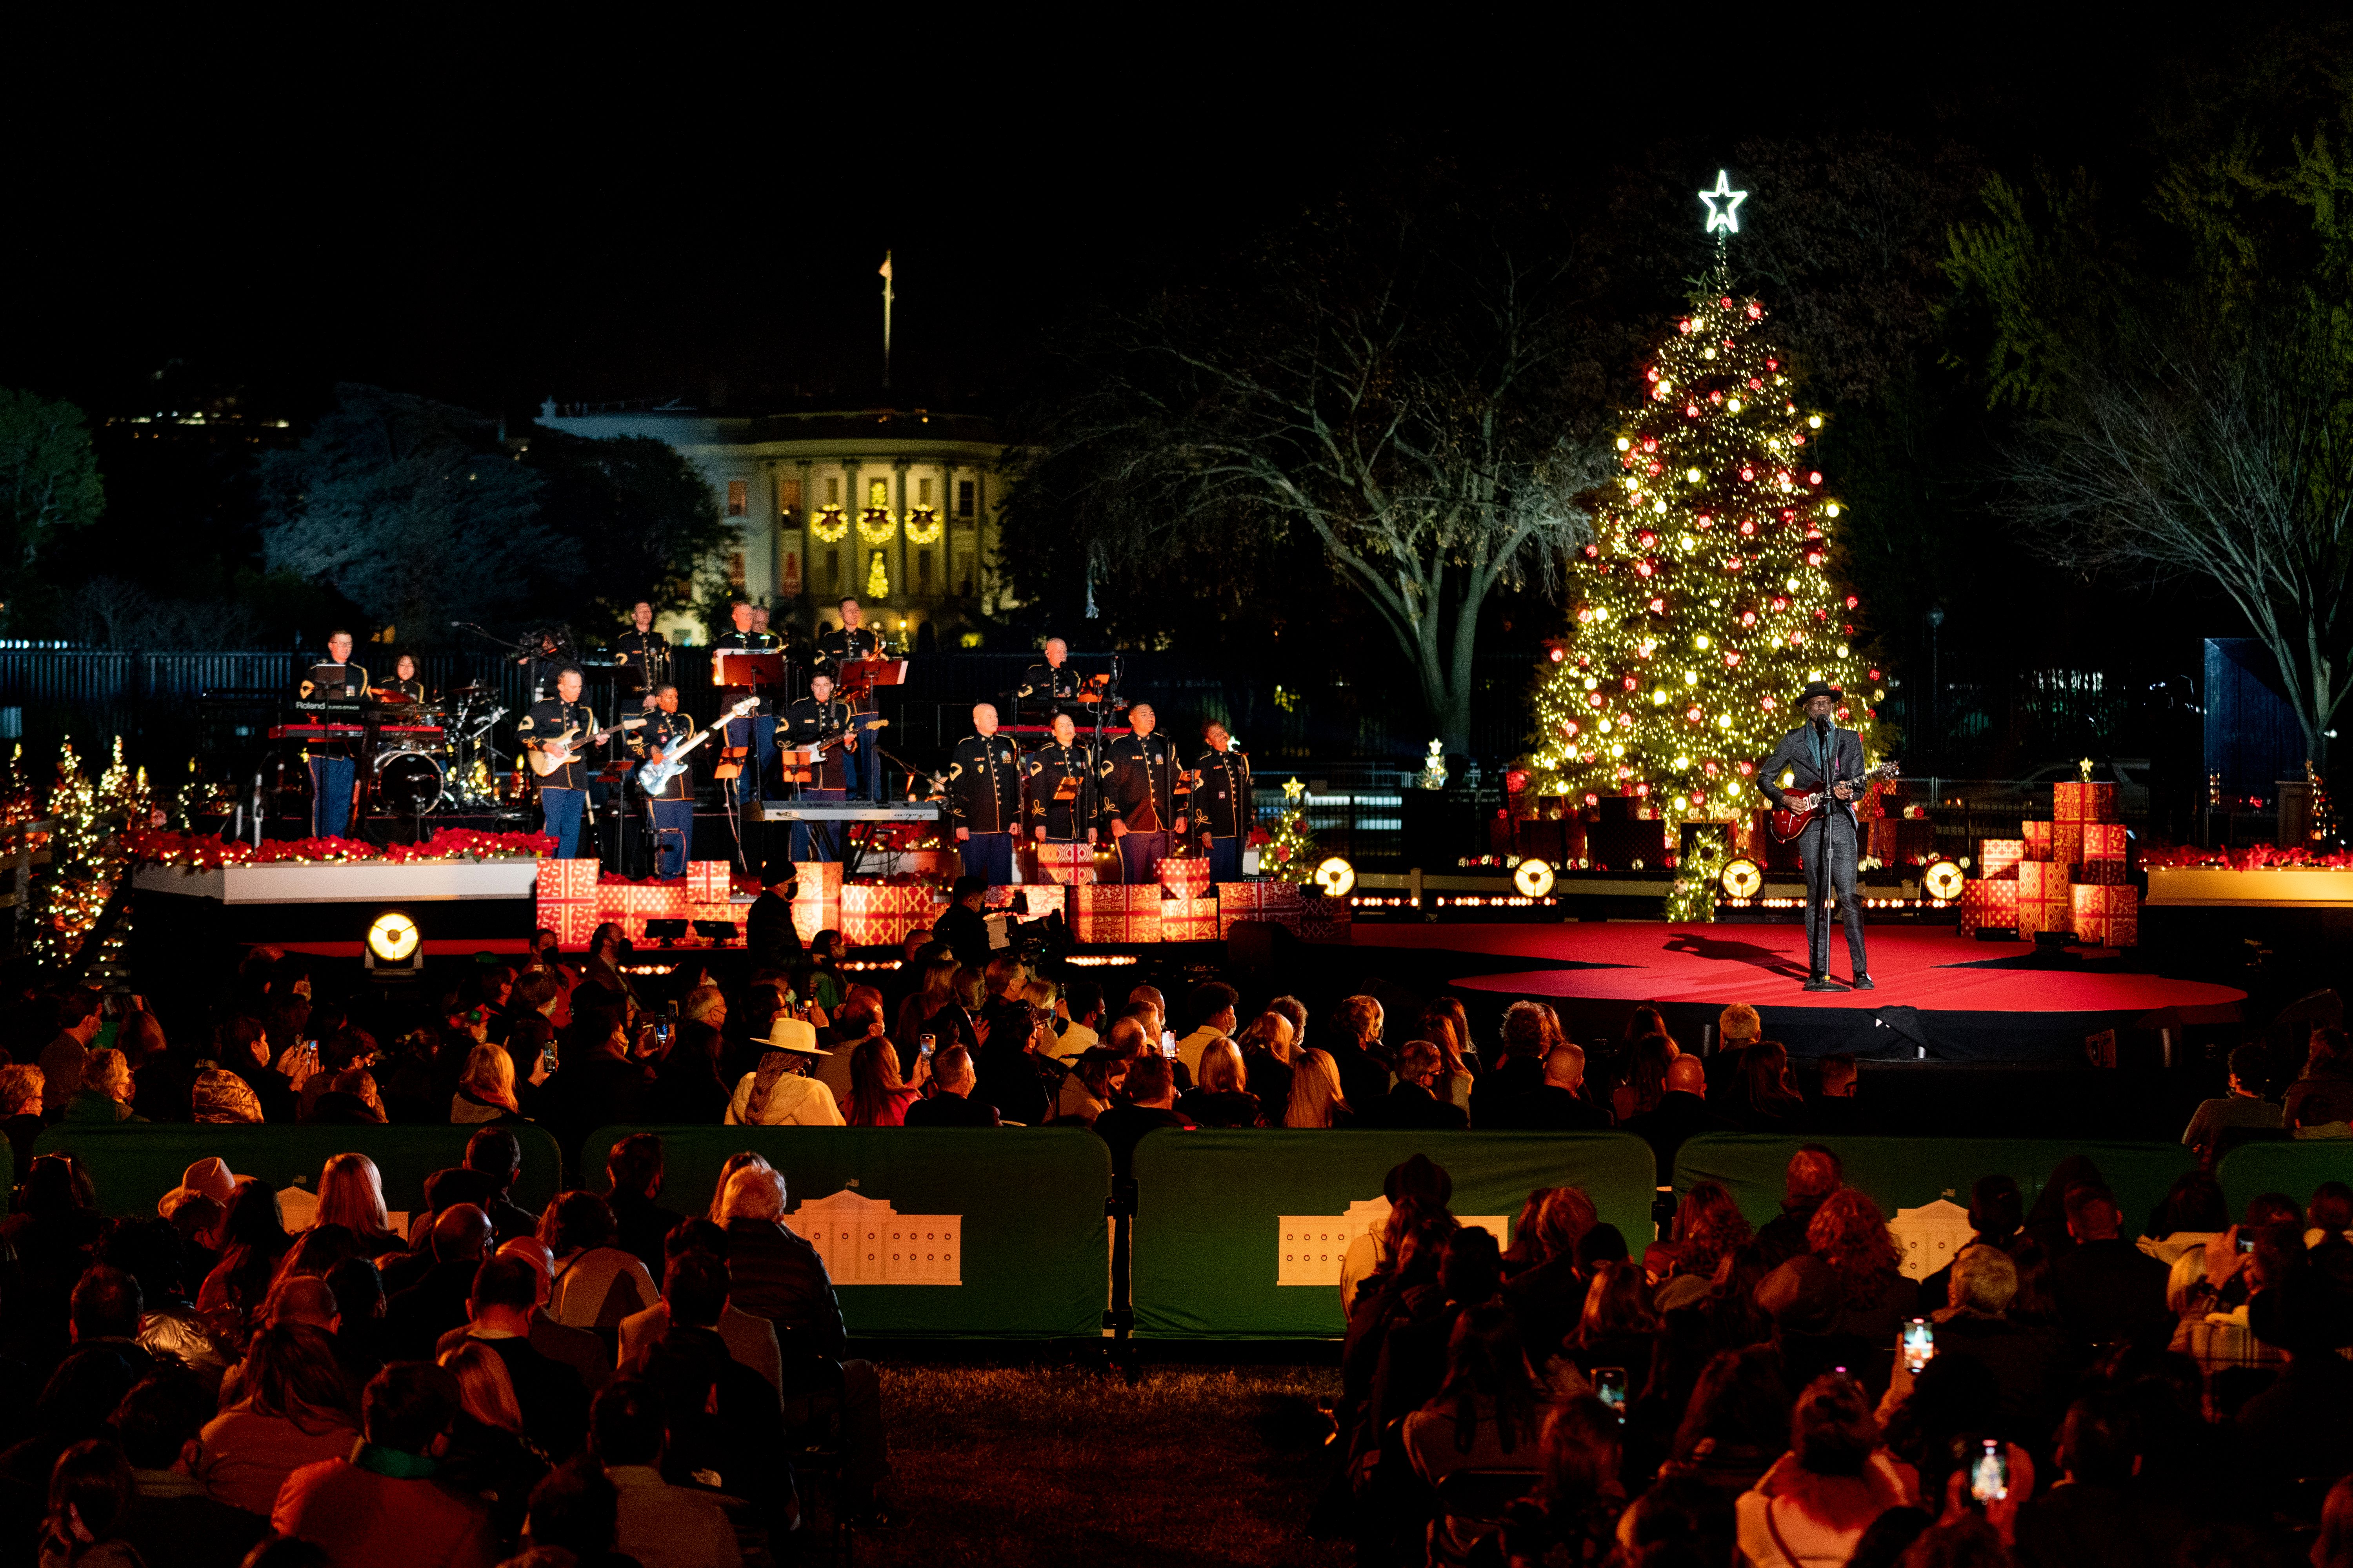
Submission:
[[[238,1175],[254,1175],[282,1192],[318,1192],[320,1168],[336,1154],[367,1154],[384,1175],[384,1206],[416,1213],[426,1204],[426,1178],[466,1164],[466,1140],[475,1126],[341,1126],[292,1121],[285,1126],[231,1126],[188,1121],[66,1121],[42,1128],[35,1154],[73,1150],[99,1187],[99,1208],[111,1215],[151,1215],[155,1199],[179,1185],[181,1171],[219,1154]],[[513,1199],[539,1213],[555,1197],[555,1140],[536,1126],[511,1126],[522,1145],[522,1175]]]

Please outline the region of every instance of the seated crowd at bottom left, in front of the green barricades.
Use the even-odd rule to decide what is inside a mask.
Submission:
[[[106,1220],[42,1154],[0,1222],[0,1561],[734,1568],[812,1479],[889,1528],[878,1382],[784,1173],[739,1154],[682,1215],[661,1157],[631,1135],[534,1218],[485,1126],[402,1239],[365,1154],[301,1232],[221,1159]]]

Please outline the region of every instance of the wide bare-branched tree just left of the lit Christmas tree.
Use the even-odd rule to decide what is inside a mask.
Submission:
[[[1311,228],[1247,289],[1108,329],[1028,482],[1104,567],[1308,529],[1459,752],[1480,609],[1553,581],[1605,475],[1584,277],[1494,230]]]

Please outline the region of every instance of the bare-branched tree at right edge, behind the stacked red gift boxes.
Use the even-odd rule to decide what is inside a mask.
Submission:
[[[2353,691],[2353,444],[2346,360],[2278,317],[2134,334],[2049,383],[2012,454],[2014,512],[2073,567],[2217,583],[2280,665],[2327,769]]]

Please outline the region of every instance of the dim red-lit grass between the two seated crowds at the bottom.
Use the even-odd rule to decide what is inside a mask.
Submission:
[[[1306,1537],[1337,1368],[889,1366],[892,1497],[859,1563],[1329,1563]]]

